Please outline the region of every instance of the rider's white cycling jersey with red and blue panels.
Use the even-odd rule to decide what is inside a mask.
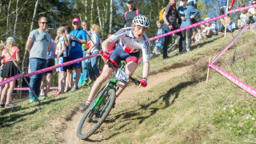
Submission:
[[[117,33],[110,36],[114,42],[120,38],[120,46],[126,53],[135,53],[142,49],[143,62],[150,62],[150,40],[146,34],[140,38],[135,38],[132,27],[122,28]]]

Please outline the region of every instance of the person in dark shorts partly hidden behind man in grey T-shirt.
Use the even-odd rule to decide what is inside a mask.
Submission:
[[[50,34],[50,30],[46,29],[46,32]],[[47,52],[47,58],[46,58],[46,66],[50,67],[50,66],[54,66],[54,53],[55,53],[55,47],[56,47],[56,43],[54,42],[53,39],[51,39],[51,43],[50,43],[50,50]],[[52,74],[53,70],[47,71],[44,76],[42,77],[42,82],[41,82],[41,86],[40,86],[40,96],[45,96],[47,97],[47,94],[50,90],[50,78],[51,78],[51,74]],[[46,91],[44,91],[44,81],[46,78]]]

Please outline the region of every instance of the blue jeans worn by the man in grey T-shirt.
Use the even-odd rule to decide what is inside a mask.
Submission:
[[[37,70],[42,70],[46,68],[46,59],[42,58],[30,58],[30,71],[31,73]],[[40,85],[42,81],[42,76],[44,73],[32,75],[30,78],[30,86],[34,93],[39,96]],[[30,99],[34,99],[32,91],[30,90]]]

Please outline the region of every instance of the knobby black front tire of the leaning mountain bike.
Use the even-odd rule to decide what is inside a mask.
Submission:
[[[96,102],[97,98],[94,98],[94,102],[91,103],[91,105],[87,108],[85,114],[83,114],[81,121],[79,122],[78,125],[78,130],[77,130],[77,136],[78,138],[81,138],[82,140],[85,140],[86,138],[89,138],[92,134],[94,134],[94,132],[96,130],[98,130],[98,127],[102,125],[102,123],[104,122],[104,120],[106,119],[107,115],[110,114],[110,110],[112,109],[112,106],[114,104],[115,101],[115,90],[114,88],[110,88],[109,90],[105,89],[104,91],[102,91],[102,94],[105,94],[105,92],[108,92],[108,94],[110,94],[110,104],[109,106],[107,106],[104,114],[102,114],[102,118],[100,118],[100,120],[97,122],[97,124],[90,129],[88,132],[86,132],[85,134],[82,134],[82,126],[86,121],[86,118],[88,117],[88,115],[91,114],[91,106],[94,106],[94,102]]]

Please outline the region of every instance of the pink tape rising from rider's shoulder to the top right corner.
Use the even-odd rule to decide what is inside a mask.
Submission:
[[[202,24],[205,24],[206,22],[211,22],[211,21],[215,21],[219,18],[224,18],[226,17],[228,14],[231,14],[231,13],[235,13],[235,12],[238,12],[238,11],[241,11],[241,10],[247,10],[247,9],[250,9],[250,8],[253,8],[253,7],[256,7],[256,5],[251,5],[251,6],[245,6],[245,7],[241,7],[241,8],[238,8],[238,9],[235,9],[235,10],[230,10],[228,11],[226,14],[222,14],[222,15],[219,15],[217,17],[214,17],[214,18],[210,18],[210,19],[207,19],[206,21],[202,21],[202,22],[197,22],[197,23],[194,23],[190,26],[186,26],[186,27],[182,27],[182,28],[179,28],[177,30],[173,30],[173,31],[170,31],[168,33],[165,33],[165,34],[161,34],[161,35],[158,35],[158,36],[155,36],[153,38],[149,38],[150,41],[154,41],[158,38],[162,38],[162,37],[166,37],[167,35],[170,35],[170,34],[175,34],[175,33],[178,33],[180,31],[183,31],[183,30],[187,30],[187,29],[191,29],[195,26],[200,26]]]

